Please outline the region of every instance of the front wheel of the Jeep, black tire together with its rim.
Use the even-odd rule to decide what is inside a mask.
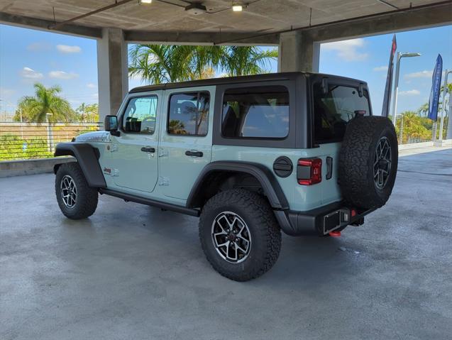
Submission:
[[[61,212],[70,219],[86,219],[96,211],[99,195],[88,186],[77,162],[60,165],[55,177],[55,194]]]

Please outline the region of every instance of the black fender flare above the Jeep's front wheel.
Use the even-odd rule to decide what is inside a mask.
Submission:
[[[89,187],[106,187],[104,174],[99,165],[99,150],[88,143],[59,143],[55,148],[55,157],[71,155],[77,158]],[[55,165],[55,172],[58,168]]]

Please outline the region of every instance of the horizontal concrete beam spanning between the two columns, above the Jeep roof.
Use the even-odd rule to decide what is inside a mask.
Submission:
[[[265,34],[249,38],[250,33],[204,33],[204,32],[150,32],[125,31],[125,40],[128,43],[160,43],[180,45],[216,45],[224,40],[233,40],[233,44],[224,45],[278,45],[280,35],[277,33]]]

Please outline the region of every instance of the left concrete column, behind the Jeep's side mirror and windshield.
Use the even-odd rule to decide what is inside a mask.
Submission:
[[[127,44],[121,28],[104,28],[97,40],[99,119],[116,114],[128,92]]]

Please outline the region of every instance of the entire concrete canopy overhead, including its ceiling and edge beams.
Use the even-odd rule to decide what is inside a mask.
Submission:
[[[452,23],[452,1],[439,0],[0,0],[0,23],[102,38],[121,28],[128,42],[277,45],[280,33],[315,41],[407,31]],[[206,11],[194,15],[190,4]],[[108,9],[105,7],[108,6]],[[93,12],[94,13],[91,13]]]

